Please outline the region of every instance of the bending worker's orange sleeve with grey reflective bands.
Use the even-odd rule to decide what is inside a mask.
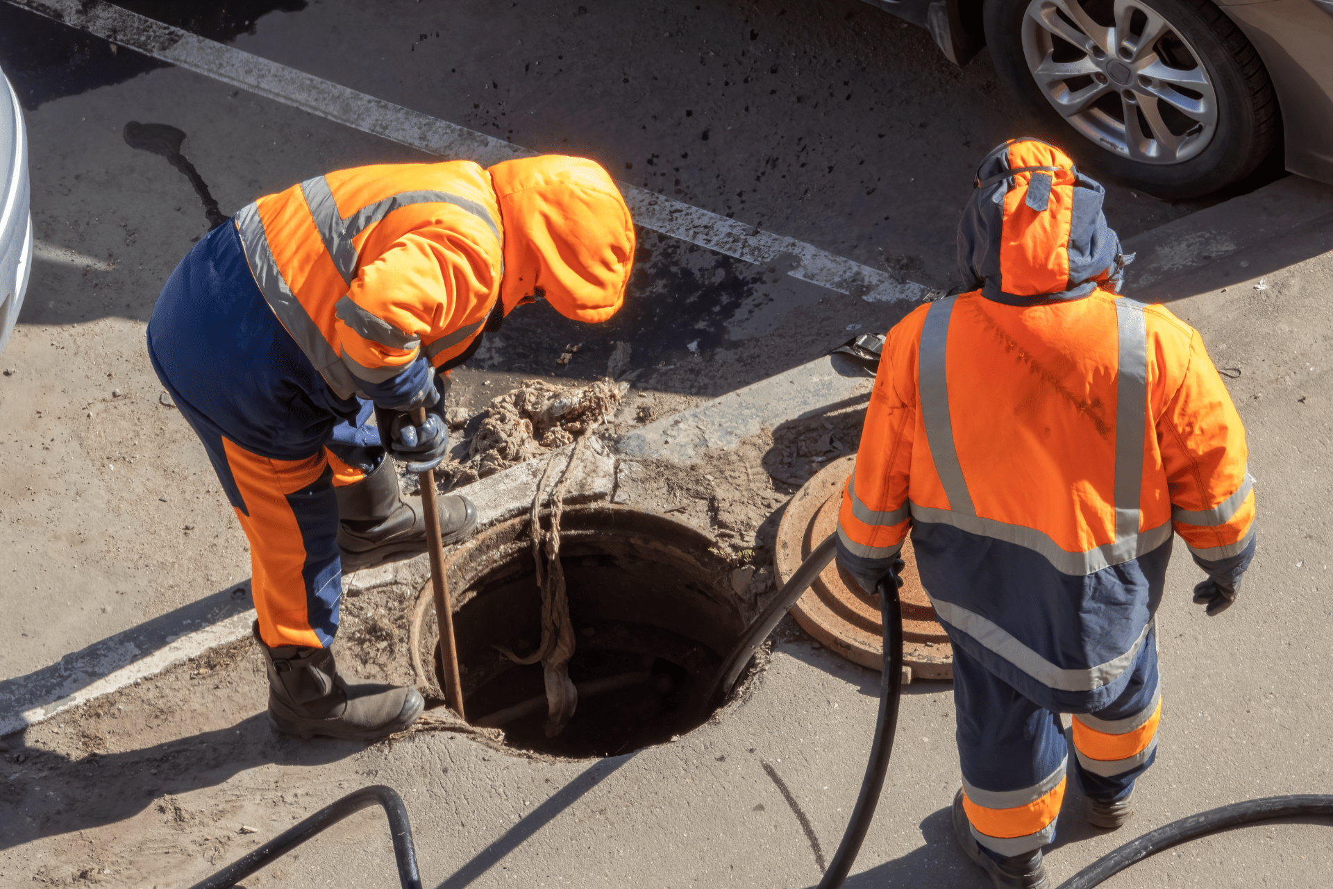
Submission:
[[[383,407],[413,401],[431,377],[423,340],[484,307],[495,277],[479,245],[444,229],[409,232],[364,265],[337,303],[343,361],[361,391]]]

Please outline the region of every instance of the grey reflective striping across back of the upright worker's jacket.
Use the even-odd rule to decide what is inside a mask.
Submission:
[[[1037,529],[978,516],[968,490],[968,481],[958,462],[949,416],[948,340],[949,320],[957,297],[932,303],[921,328],[918,385],[921,421],[926,446],[940,482],[949,500],[948,509],[910,504],[912,517],[920,522],[946,524],[961,530],[1002,540],[1032,549],[1046,558],[1056,570],[1086,576],[1132,561],[1149,553],[1172,536],[1170,521],[1140,532],[1140,488],[1144,473],[1144,433],[1148,423],[1148,324],[1144,305],[1126,299],[1116,300],[1118,332],[1116,384],[1116,537],[1084,552],[1060,548],[1049,534]],[[1012,633],[989,618],[966,608],[934,598],[940,620],[976,638],[986,649],[1005,658],[1049,688],[1092,690],[1116,680],[1134,660],[1148,628],[1129,650],[1088,669],[1065,669],[1032,650]]]

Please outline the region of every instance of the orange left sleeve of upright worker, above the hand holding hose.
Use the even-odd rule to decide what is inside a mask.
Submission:
[[[870,404],[865,412],[856,465],[842,485],[838,509],[837,557],[858,577],[884,577],[902,549],[910,526],[908,476],[912,466],[912,440],[916,431],[916,393],[896,356],[914,353],[905,343],[901,325],[889,333],[880,371],[874,377]],[[900,379],[902,377],[902,379]]]

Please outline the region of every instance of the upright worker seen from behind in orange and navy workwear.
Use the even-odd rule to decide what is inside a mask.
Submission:
[[[1254,554],[1245,429],[1198,332],[1118,297],[1104,189],[1021,139],[986,155],[958,225],[968,292],[889,332],[838,562],[864,589],[902,541],[953,642],[953,826],[996,886],[1049,886],[1065,792],[1117,828],[1157,753],[1153,616],[1174,529],[1218,614]]]

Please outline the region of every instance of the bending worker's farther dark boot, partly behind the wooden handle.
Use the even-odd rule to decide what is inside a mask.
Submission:
[[[364,481],[335,488],[337,494],[337,545],[343,573],[375,568],[396,558],[425,552],[425,513],[421,498],[399,494],[399,476],[385,457]],[[459,494],[439,497],[440,534],[456,544],[477,525],[477,508]]]

